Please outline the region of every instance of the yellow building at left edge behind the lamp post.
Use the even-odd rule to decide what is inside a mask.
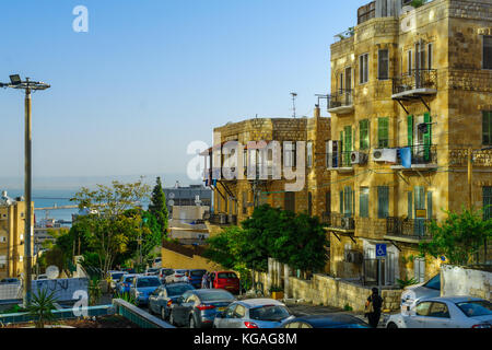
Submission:
[[[34,205],[33,211],[34,213]],[[24,271],[25,201],[0,197],[0,279]],[[34,214],[32,218],[34,222]]]

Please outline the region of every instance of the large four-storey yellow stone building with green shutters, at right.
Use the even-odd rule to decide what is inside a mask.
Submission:
[[[471,205],[492,200],[492,2],[409,2],[362,7],[331,45],[330,275],[365,283],[376,244],[383,284],[437,273],[419,243],[467,206],[469,149]]]

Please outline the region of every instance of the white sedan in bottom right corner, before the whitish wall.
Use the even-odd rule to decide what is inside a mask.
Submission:
[[[410,313],[389,316],[386,328],[492,328],[492,303],[471,296],[422,298]]]

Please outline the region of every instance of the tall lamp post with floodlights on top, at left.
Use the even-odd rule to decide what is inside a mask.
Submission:
[[[31,303],[32,292],[32,240],[33,240],[33,222],[32,222],[32,91],[46,90],[50,85],[39,81],[31,81],[28,78],[25,81],[21,80],[19,74],[10,75],[10,83],[0,83],[0,88],[12,88],[24,90],[25,100],[25,133],[24,133],[24,158],[25,158],[25,173],[24,173],[24,196],[25,196],[25,233],[24,233],[24,306]]]

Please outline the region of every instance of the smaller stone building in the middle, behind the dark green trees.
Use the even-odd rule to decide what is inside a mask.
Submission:
[[[263,203],[320,218],[326,215],[330,210],[327,196],[330,174],[325,152],[329,135],[330,120],[320,116],[318,105],[313,118],[254,118],[215,128],[214,147],[202,153],[204,179],[213,188],[210,222],[239,223]],[[236,148],[236,143],[244,149]],[[259,164],[265,165],[266,176],[261,176]],[[244,173],[226,176],[227,170],[238,173],[239,167]],[[285,167],[296,173],[296,177],[286,175]],[[248,174],[250,168],[255,174]],[[286,187],[296,182],[298,188]]]

